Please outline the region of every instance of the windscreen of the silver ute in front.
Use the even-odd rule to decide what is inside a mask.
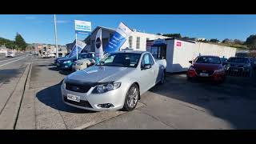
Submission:
[[[141,54],[134,53],[114,53],[108,54],[102,58],[96,66],[122,66],[122,67],[137,67]]]

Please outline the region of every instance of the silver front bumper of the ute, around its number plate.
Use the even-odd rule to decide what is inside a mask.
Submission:
[[[126,98],[126,89],[120,86],[116,90],[111,90],[103,94],[92,94],[95,87],[91,87],[87,93],[78,93],[66,90],[62,84],[62,101],[69,106],[74,106],[84,110],[105,111],[105,110],[120,110],[123,107]],[[67,102],[66,95],[73,94],[80,97],[80,102]],[[99,104],[110,103],[113,106],[110,108],[99,107]],[[89,104],[89,105],[88,105]]]

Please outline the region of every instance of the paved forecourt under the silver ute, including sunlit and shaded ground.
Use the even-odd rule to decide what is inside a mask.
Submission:
[[[255,78],[228,77],[216,85],[168,74],[164,85],[142,95],[136,110],[92,112],[62,102],[69,74],[53,59],[34,59],[15,129],[255,129]]]

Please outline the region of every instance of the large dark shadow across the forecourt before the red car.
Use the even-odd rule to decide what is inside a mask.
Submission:
[[[186,74],[169,74],[165,84],[150,91],[210,110],[236,129],[256,129],[256,78],[227,77],[226,82],[215,85],[207,81],[188,82]]]

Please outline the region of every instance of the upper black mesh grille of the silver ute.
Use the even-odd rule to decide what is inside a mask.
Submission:
[[[90,90],[90,86],[66,82],[66,90],[70,90],[78,93],[87,93],[87,91]]]

